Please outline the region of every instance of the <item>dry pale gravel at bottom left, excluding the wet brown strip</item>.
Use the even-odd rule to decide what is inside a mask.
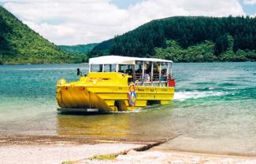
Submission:
[[[3,164],[58,164],[80,161],[94,155],[116,154],[139,148],[141,144],[46,144],[0,146]]]

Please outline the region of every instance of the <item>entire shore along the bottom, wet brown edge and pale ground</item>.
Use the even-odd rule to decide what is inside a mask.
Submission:
[[[160,141],[161,142],[161,141]],[[255,156],[217,155],[166,150],[156,140],[94,140],[83,137],[0,136],[3,164],[29,163],[256,163]],[[168,143],[168,142],[167,142]],[[148,145],[156,144],[154,148]],[[150,148],[142,151],[143,148]],[[137,150],[137,151],[134,151]],[[140,151],[138,151],[140,150]],[[114,160],[91,159],[95,155],[116,155]]]

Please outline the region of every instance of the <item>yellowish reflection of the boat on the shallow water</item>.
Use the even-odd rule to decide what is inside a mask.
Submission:
[[[163,119],[165,116],[156,107],[109,115],[57,115],[57,132],[58,135],[115,140],[166,140],[176,137],[168,130],[172,125],[162,122]]]

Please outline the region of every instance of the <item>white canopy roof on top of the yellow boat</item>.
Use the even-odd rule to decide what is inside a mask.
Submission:
[[[99,56],[99,57],[91,58],[91,59],[89,59],[89,64],[135,64],[135,61],[152,61],[152,62],[173,63],[172,60],[111,55],[111,56]]]

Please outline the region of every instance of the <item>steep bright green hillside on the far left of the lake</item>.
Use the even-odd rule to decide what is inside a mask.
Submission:
[[[0,64],[79,62],[0,6]]]

